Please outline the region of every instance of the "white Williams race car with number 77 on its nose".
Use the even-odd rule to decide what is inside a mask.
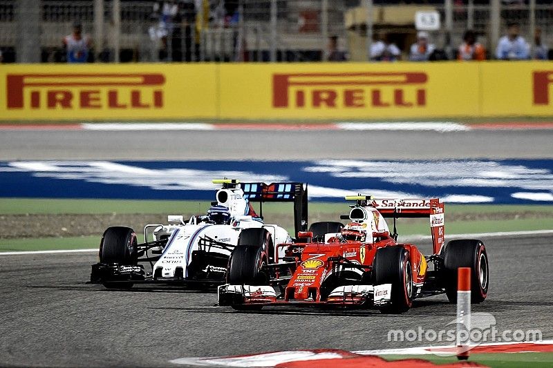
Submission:
[[[274,244],[290,243],[288,231],[263,222],[263,202],[293,202],[296,233],[307,226],[307,186],[301,183],[239,183],[214,180],[223,187],[207,215],[169,215],[169,224],[144,226],[144,244],[133,229],[113,226],[100,241],[100,262],[92,265],[91,283],[129,288],[137,282],[222,284],[229,255],[247,244],[278,257]],[[259,202],[257,215],[250,202]],[[283,250],[282,250],[283,251]],[[142,264],[141,264],[142,263]],[[151,265],[151,272],[144,269]]]

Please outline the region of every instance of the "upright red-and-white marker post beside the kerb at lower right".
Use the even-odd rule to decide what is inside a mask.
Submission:
[[[471,269],[457,271],[457,358],[469,358],[471,333]]]

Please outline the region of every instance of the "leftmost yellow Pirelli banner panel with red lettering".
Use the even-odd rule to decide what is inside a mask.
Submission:
[[[216,64],[0,66],[0,119],[214,118]]]

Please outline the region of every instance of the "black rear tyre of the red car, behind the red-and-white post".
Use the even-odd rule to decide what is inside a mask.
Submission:
[[[457,302],[457,269],[471,268],[471,302],[481,303],[488,294],[489,267],[484,243],[480,240],[451,240],[444,248],[444,283],[449,302]]]

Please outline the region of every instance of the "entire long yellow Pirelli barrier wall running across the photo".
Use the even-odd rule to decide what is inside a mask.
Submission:
[[[552,61],[0,66],[0,120],[553,116]]]

